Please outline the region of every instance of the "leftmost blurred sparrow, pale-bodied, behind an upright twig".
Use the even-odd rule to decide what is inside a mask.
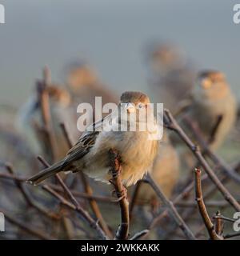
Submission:
[[[70,94],[57,84],[51,84],[46,88],[50,98],[50,115],[52,120],[52,128],[54,140],[57,142],[56,159],[62,158],[67,150],[66,139],[62,134],[60,123],[64,122],[67,129],[70,131],[72,139],[76,140],[78,137],[78,130],[76,126],[76,119],[74,112],[70,107],[71,98]],[[35,155],[45,155],[44,146],[40,134],[36,128],[41,123],[41,106],[39,104],[38,94],[35,92],[28,102],[22,106],[18,111],[16,126],[18,131],[22,134],[22,138],[26,140],[27,145]]]

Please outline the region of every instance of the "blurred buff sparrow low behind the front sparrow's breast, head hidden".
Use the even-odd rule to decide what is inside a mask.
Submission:
[[[171,145],[166,131],[161,142],[159,142],[159,150],[154,165],[150,173],[154,181],[161,187],[162,192],[167,198],[170,198],[174,186],[179,178],[179,158],[178,153]],[[142,184],[138,192],[138,201],[140,204],[155,202],[157,200],[156,193],[148,184]]]

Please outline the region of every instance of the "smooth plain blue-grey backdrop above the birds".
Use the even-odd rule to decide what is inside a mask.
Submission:
[[[173,42],[201,69],[222,70],[238,90],[238,1],[1,0],[0,102],[19,106],[42,66],[62,81],[66,65],[86,59],[106,85],[147,90],[144,51],[154,41]]]

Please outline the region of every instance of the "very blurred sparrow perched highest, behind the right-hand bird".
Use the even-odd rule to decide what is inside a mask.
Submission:
[[[161,44],[150,51],[148,67],[149,85],[158,97],[156,100],[174,114],[194,85],[193,66],[177,47]]]

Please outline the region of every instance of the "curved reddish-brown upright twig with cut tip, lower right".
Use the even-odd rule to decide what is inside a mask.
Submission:
[[[216,233],[216,230],[214,229],[214,224],[207,213],[206,206],[202,197],[201,170],[198,168],[195,169],[195,194],[196,201],[198,202],[199,212],[202,216],[202,220],[206,226],[206,230],[208,231],[210,238],[212,240],[222,240],[222,236]]]

